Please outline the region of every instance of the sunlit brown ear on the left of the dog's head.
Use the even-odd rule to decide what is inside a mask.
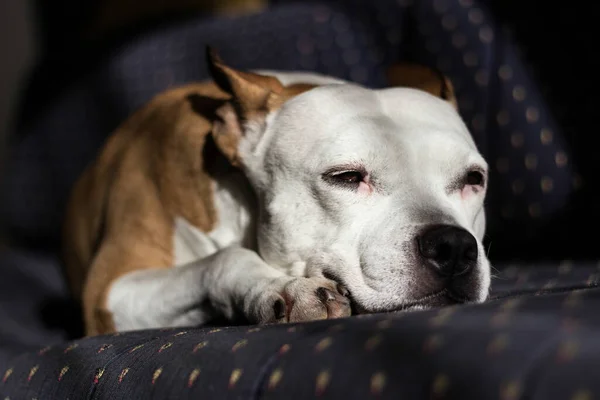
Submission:
[[[221,152],[240,165],[238,143],[248,122],[262,124],[267,114],[284,101],[285,88],[273,76],[239,71],[226,65],[211,47],[206,49],[208,68],[215,84],[231,95],[231,101],[217,110],[213,137]]]

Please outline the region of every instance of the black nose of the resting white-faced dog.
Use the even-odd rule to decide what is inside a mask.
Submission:
[[[477,263],[477,240],[457,226],[429,228],[418,238],[418,243],[423,258],[444,277],[466,274]]]

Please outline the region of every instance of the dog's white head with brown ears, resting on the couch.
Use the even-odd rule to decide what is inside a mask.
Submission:
[[[359,312],[486,299],[487,164],[445,78],[285,87],[209,59],[232,96],[215,142],[256,191],[268,263],[337,280]]]

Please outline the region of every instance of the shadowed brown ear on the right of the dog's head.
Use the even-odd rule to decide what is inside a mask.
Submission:
[[[438,70],[419,64],[398,63],[388,68],[387,80],[390,86],[424,90],[458,109],[452,82]]]

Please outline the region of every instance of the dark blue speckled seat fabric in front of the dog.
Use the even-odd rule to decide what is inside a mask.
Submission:
[[[13,358],[11,399],[593,399],[600,269],[504,270],[492,300],[267,327],[87,338]]]

